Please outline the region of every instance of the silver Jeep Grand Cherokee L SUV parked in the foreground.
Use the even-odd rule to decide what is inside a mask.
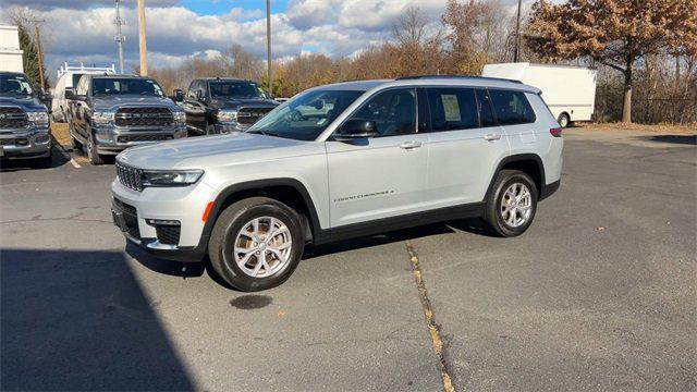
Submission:
[[[114,222],[156,256],[242,291],[285,281],[306,244],[466,217],[514,236],[560,185],[561,128],[535,87],[404,77],[304,91],[247,132],[117,158]]]

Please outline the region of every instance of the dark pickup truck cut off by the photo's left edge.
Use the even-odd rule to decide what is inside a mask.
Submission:
[[[23,73],[0,72],[0,158],[51,158],[50,99]]]

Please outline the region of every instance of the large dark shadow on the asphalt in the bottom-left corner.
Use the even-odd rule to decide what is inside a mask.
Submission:
[[[2,390],[192,390],[118,252],[0,250]]]

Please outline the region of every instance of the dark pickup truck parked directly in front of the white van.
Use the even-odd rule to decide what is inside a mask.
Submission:
[[[65,98],[71,142],[84,146],[91,164],[127,147],[186,136],[186,114],[150,77],[84,75]]]

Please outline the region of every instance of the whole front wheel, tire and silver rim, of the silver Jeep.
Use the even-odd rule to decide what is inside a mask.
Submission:
[[[303,256],[305,237],[297,213],[266,197],[228,207],[208,244],[210,261],[225,282],[253,292],[283,283]]]

